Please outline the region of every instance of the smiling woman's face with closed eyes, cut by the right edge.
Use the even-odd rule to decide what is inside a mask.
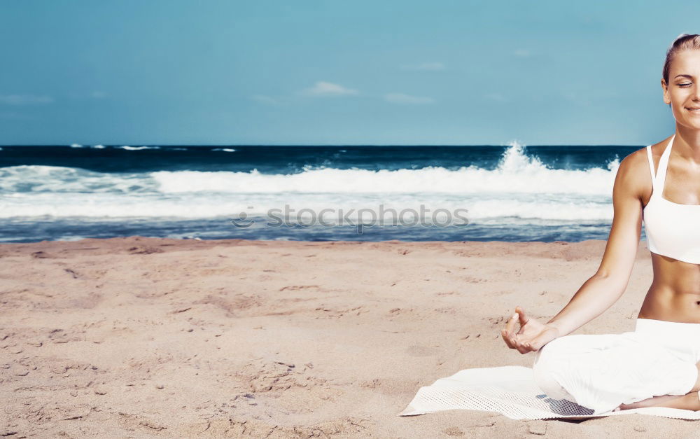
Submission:
[[[677,53],[668,72],[668,84],[661,79],[661,87],[664,102],[671,104],[675,120],[700,130],[700,50]]]

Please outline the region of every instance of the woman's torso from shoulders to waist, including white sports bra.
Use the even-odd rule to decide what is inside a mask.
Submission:
[[[644,200],[645,214],[649,219],[652,219],[652,214],[657,218],[663,217],[663,214],[671,214],[674,221],[678,221],[681,227],[685,225],[685,233],[689,232],[689,234],[687,239],[678,242],[675,246],[669,247],[668,242],[653,243],[659,247],[659,249],[654,250],[668,253],[668,255],[657,254],[653,251],[651,253],[654,281],[647,291],[638,317],[640,319],[700,323],[700,264],[692,258],[686,262],[671,257],[673,255],[682,258],[689,253],[697,254],[696,249],[700,249],[700,242],[698,242],[700,222],[695,224],[696,218],[700,218],[700,179],[692,167],[681,166],[676,160],[673,160],[671,154],[673,148],[669,148],[666,158],[663,157],[666,147],[672,147],[675,143],[671,142],[673,140],[675,139],[672,136],[670,141],[667,139],[652,146],[656,181],[650,184],[650,190],[647,191],[646,200]],[[647,169],[648,173],[650,173],[650,169]],[[649,178],[651,181],[651,176]],[[659,198],[663,198],[663,200],[659,200]],[[649,239],[648,227],[650,225],[656,228],[654,231],[657,232],[659,238],[664,236],[664,232],[673,232],[673,230],[662,230],[661,228],[674,227],[673,224],[653,222],[647,224],[645,222],[647,239]],[[685,236],[685,234],[681,236]],[[650,245],[650,249],[651,247]]]

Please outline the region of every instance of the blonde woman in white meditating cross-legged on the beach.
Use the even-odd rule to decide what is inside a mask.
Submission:
[[[598,271],[547,323],[516,307],[501,331],[511,349],[535,351],[535,382],[547,396],[594,414],[650,406],[700,410],[700,35],[673,41],[661,88],[675,134],[620,163]],[[568,335],[624,292],[642,220],[654,281],[635,330]]]

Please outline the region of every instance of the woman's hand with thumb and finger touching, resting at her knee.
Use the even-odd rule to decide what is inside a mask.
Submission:
[[[520,330],[515,332],[515,324],[520,323]],[[521,354],[538,351],[542,346],[559,337],[559,329],[528,317],[524,309],[515,307],[515,314],[508,319],[505,329],[500,330],[505,344],[510,349],[517,349]]]

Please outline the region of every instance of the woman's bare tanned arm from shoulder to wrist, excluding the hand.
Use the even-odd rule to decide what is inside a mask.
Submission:
[[[642,150],[642,152],[645,152]],[[646,156],[642,155],[646,161]],[[548,325],[566,335],[603,314],[624,293],[632,272],[642,228],[642,201],[640,198],[640,156],[628,155],[617,169],[612,188],[613,218],[608,244],[598,271],[584,282],[568,304]],[[648,165],[646,165],[648,175]],[[642,169],[644,169],[642,167]],[[648,179],[651,176],[648,175]]]

